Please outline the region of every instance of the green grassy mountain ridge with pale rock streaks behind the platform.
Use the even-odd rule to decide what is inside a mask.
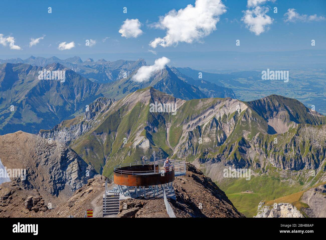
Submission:
[[[151,111],[159,103],[176,111]],[[149,87],[119,101],[99,98],[84,116],[39,135],[67,142],[105,176],[119,163],[150,160],[153,151],[159,158],[194,162],[241,212],[253,216],[260,200],[325,179],[323,124],[323,115],[282,96],[185,101]],[[225,178],[229,167],[250,169],[251,179]]]

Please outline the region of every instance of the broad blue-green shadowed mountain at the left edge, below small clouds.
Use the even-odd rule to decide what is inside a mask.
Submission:
[[[38,72],[66,71],[65,82],[39,80]],[[52,128],[96,98],[105,85],[52,63],[46,67],[5,63],[0,65],[0,134],[22,130],[37,133]]]

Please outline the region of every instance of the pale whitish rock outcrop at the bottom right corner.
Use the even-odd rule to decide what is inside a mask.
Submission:
[[[304,215],[290,203],[274,203],[264,205],[261,201],[258,206],[257,215],[254,217],[304,217]]]

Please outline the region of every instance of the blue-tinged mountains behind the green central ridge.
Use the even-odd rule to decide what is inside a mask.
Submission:
[[[15,61],[21,61],[21,59],[12,60],[12,62]],[[58,60],[55,57],[47,59],[30,57],[24,60],[24,62],[41,65],[52,61]],[[79,57],[74,57],[61,62],[67,66],[77,63],[79,64],[78,66],[84,66],[82,64],[87,61],[83,63]],[[97,61],[94,66],[110,68],[113,71],[110,73],[111,76],[116,74],[114,79],[119,78],[122,72],[127,71],[126,78],[110,81],[109,83],[104,83],[105,81],[91,81],[58,62],[44,67],[25,63],[1,64],[0,134],[19,130],[37,133],[40,129],[50,129],[62,120],[77,116],[84,111],[87,107],[86,105],[98,97],[119,100],[137,89],[148,86],[153,86],[160,91],[185,100],[206,97],[235,98],[233,91],[228,88],[207,82],[203,84],[189,77],[186,82],[184,77],[179,77],[181,76],[180,72],[174,69],[178,76],[168,66],[156,72],[148,81],[141,83],[133,81],[131,77],[140,66],[145,64],[143,60]],[[75,67],[72,67],[72,69],[75,69]],[[39,79],[39,71],[44,70],[65,71],[66,81]],[[95,70],[92,69],[92,71]],[[95,74],[96,71],[93,73]],[[199,87],[194,85],[197,83]]]

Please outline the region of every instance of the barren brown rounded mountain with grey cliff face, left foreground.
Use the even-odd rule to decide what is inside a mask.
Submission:
[[[21,131],[0,136],[0,139],[0,158],[7,172],[24,169],[23,174],[8,175],[11,182],[4,183],[8,191],[12,191],[8,188],[10,184],[15,186],[16,192],[35,190],[46,204],[55,205],[67,200],[96,174],[94,168],[66,144]]]

